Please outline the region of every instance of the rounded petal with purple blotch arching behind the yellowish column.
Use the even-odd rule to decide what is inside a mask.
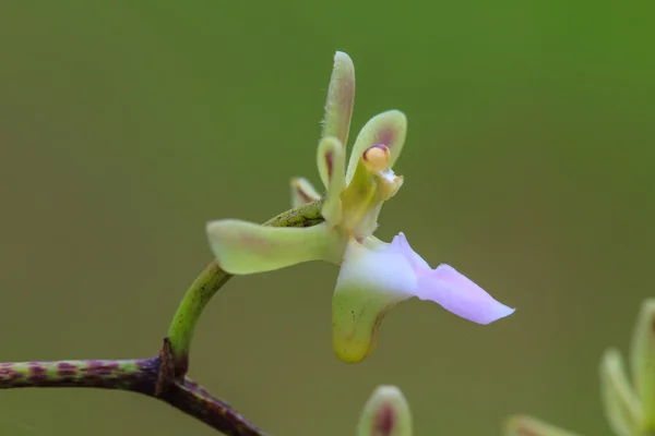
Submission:
[[[371,118],[359,132],[353,146],[346,172],[346,183],[350,183],[350,180],[353,180],[364,152],[373,145],[384,144],[389,148],[391,152],[389,166],[390,168],[393,167],[401,155],[406,134],[407,117],[400,110],[389,110]]]

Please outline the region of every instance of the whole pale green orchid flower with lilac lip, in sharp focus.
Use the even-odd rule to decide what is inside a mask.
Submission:
[[[219,265],[229,274],[270,271],[308,261],[341,265],[332,303],[333,347],[344,362],[360,362],[377,344],[383,316],[409,298],[429,300],[478,324],[514,310],[497,302],[448,265],[436,269],[412,250],[403,233],[391,243],[373,232],[382,204],[403,178],[392,167],[405,143],[407,120],[397,110],[372,118],[359,132],[346,167],[355,98],[355,68],[336,52],[327,90],[318,168],[326,194],[306,179],[291,180],[294,206],[322,202],[324,222],[307,228],[272,228],[235,219],[207,225]]]

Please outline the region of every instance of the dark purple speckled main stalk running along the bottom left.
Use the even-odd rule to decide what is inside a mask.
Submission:
[[[167,402],[228,436],[263,436],[228,403],[213,397],[195,382],[168,380],[155,395],[162,358],[140,360],[91,360],[0,363],[0,389],[11,388],[102,388],[143,393]]]

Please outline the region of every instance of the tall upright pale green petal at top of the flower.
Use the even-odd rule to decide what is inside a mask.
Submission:
[[[348,144],[348,131],[354,105],[355,65],[353,65],[353,60],[348,55],[337,51],[334,55],[334,68],[327,88],[321,137],[336,137],[345,147]]]

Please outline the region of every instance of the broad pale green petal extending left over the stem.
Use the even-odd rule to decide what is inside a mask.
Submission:
[[[324,222],[306,228],[274,228],[224,219],[207,223],[207,237],[221,267],[235,275],[264,272],[309,261],[341,261],[335,234]]]

